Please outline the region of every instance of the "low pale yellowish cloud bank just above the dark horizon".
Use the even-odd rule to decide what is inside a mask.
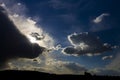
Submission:
[[[9,63],[10,69],[16,70],[33,70],[54,74],[84,74],[87,69],[80,65],[79,63],[69,62],[69,61],[59,61],[56,59],[52,59],[51,57],[44,56],[46,58],[45,62],[40,63],[30,61],[30,60],[17,60],[17,62],[13,61]],[[19,63],[19,64],[17,64]],[[16,65],[17,64],[17,65]],[[28,67],[29,66],[29,67]]]

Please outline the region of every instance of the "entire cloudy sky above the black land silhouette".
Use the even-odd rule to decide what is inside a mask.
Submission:
[[[0,20],[6,26],[0,33],[4,42],[0,62],[7,65],[2,69],[120,76],[119,0],[0,0],[0,4],[5,9],[0,9],[0,16],[8,14]]]

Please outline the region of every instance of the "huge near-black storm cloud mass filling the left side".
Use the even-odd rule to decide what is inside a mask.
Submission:
[[[0,67],[11,58],[35,58],[43,50],[43,47],[30,43],[0,7]]]

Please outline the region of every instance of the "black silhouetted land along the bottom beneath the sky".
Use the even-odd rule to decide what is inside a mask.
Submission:
[[[85,75],[56,75],[37,71],[17,71],[17,70],[5,70],[0,71],[0,77],[4,80],[120,80],[120,76],[96,76],[85,72]]]

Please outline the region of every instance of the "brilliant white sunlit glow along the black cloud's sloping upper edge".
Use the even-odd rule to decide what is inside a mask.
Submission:
[[[14,22],[14,24],[17,26],[17,28],[20,30],[22,34],[24,34],[32,43],[37,43],[42,47],[51,49],[54,47],[54,40],[53,38],[43,29],[40,25],[37,25],[37,21],[34,21],[31,17],[26,17],[24,14],[19,15],[17,13],[11,12],[10,7],[8,8],[4,3],[2,3],[3,7],[7,10],[8,15],[10,19]],[[16,6],[22,6],[17,5]],[[38,33],[40,35],[45,35],[45,38],[42,40],[36,40],[34,37],[32,37],[31,33]]]

